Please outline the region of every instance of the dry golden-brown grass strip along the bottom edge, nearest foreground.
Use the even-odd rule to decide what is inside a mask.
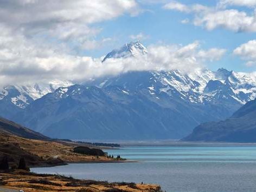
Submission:
[[[159,186],[150,184],[134,183],[108,183],[86,180],[75,180],[74,178],[59,175],[31,174],[25,171],[15,171],[9,174],[0,174],[2,181],[7,182],[5,187],[12,189],[23,189],[24,191],[123,191],[123,192],[159,192]],[[43,181],[44,184],[34,183]],[[70,185],[68,183],[77,183]]]

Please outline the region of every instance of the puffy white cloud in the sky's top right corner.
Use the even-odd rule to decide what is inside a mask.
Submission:
[[[201,4],[186,5],[171,2],[164,9],[177,10],[194,16],[193,23],[207,30],[225,28],[235,32],[256,32],[256,14],[237,9],[225,9],[224,5],[254,5],[255,1],[223,0],[216,7]],[[224,9],[223,9],[224,8]],[[183,22],[184,23],[184,22]]]

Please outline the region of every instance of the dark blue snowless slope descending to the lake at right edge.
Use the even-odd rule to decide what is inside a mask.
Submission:
[[[256,100],[225,121],[199,125],[183,141],[256,142]]]

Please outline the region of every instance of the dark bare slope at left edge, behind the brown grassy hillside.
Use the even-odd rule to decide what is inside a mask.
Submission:
[[[0,131],[4,133],[13,134],[16,136],[31,138],[36,140],[48,140],[49,138],[37,133],[33,130],[22,127],[21,125],[14,123],[12,121],[8,121],[4,118],[0,118]]]

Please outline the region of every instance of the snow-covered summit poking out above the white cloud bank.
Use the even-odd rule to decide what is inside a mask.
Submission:
[[[108,53],[102,62],[106,61],[109,58],[127,58],[127,57],[136,57],[139,55],[145,55],[148,53],[146,47],[140,43],[140,41],[126,43],[120,49],[114,49]]]

